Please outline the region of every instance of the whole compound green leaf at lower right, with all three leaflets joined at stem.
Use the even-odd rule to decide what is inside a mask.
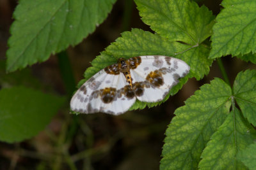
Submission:
[[[256,138],[255,86],[256,71],[246,70],[232,92],[219,78],[196,91],[166,130],[161,169],[246,169],[236,156]]]

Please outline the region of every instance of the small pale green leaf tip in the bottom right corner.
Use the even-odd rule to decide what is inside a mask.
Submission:
[[[256,143],[237,153],[237,159],[241,160],[249,169],[256,167]]]

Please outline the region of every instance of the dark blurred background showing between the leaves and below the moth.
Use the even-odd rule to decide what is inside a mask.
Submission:
[[[198,2],[200,6],[205,4],[214,15],[220,12],[220,3],[215,0]],[[0,0],[0,60],[5,59],[8,49],[15,6],[17,1]],[[84,71],[90,67],[95,56],[120,37],[120,33],[131,31],[131,28],[151,31],[140,20],[132,1],[118,0],[95,32],[79,45],[67,49],[76,83],[83,78]],[[230,56],[222,60],[231,83],[239,71],[253,67]],[[46,62],[29,69],[42,84],[42,89],[67,95],[58,57],[52,55]],[[201,81],[190,79],[179,93],[161,106],[128,111],[120,116],[104,113],[71,115],[67,101],[66,106],[35,138],[13,144],[0,142],[0,169],[159,169],[164,132],[175,109],[183,106],[195,90],[214,77],[221,78],[216,61],[207,77]]]

